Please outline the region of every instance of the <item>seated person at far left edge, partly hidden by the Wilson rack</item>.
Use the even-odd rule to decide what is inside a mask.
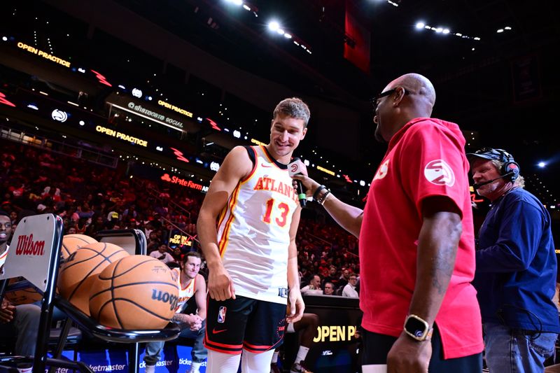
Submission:
[[[8,257],[8,241],[12,235],[12,223],[8,213],[0,211],[0,269]],[[0,335],[15,335],[14,354],[19,356],[34,356],[39,329],[41,308],[36,304],[11,304],[3,299],[0,305]],[[33,370],[31,365],[21,365],[20,372]]]

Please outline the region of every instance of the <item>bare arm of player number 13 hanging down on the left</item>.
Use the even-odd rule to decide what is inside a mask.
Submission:
[[[248,176],[252,169],[253,162],[248,157],[247,150],[242,146],[233,148],[212,179],[198,215],[198,238],[209,269],[208,292],[215,300],[227,300],[231,297],[235,299],[232,279],[223,267],[218,250],[216,220],[239,181]]]

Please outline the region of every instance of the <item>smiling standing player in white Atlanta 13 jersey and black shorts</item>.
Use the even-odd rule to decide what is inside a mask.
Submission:
[[[302,100],[281,101],[270,142],[233,148],[200,209],[197,228],[209,267],[209,373],[237,372],[241,351],[242,372],[267,372],[286,321],[302,317],[295,247],[301,207],[286,165],[308,121]]]

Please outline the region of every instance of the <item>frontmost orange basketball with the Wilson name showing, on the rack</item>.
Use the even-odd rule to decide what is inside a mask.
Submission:
[[[167,265],[148,255],[130,255],[106,267],[90,294],[90,313],[102,325],[162,329],[175,314],[179,288]]]

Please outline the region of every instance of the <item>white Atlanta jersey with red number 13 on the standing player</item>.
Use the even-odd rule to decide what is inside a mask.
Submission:
[[[286,304],[297,194],[285,165],[275,162],[263,146],[251,149],[255,165],[220,215],[218,248],[236,295]]]

